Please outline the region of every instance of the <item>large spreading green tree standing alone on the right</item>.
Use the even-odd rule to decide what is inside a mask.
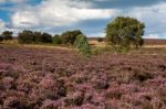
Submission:
[[[143,45],[145,24],[134,18],[117,17],[106,26],[106,42],[116,51],[128,51],[131,45]]]

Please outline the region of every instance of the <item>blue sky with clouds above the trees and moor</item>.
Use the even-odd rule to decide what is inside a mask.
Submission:
[[[105,36],[106,24],[120,15],[144,22],[144,37],[166,39],[166,0],[0,0],[0,32]]]

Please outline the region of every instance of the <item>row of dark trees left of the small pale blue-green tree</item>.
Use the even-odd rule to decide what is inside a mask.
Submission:
[[[49,33],[32,32],[24,30],[18,34],[18,41],[21,44],[39,44],[39,43],[53,43],[53,44],[74,44],[77,35],[83,34],[80,30],[66,31],[61,35],[55,34],[52,36]]]

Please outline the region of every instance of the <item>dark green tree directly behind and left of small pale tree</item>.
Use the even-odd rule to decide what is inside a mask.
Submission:
[[[62,43],[63,44],[74,44],[76,36],[80,34],[82,34],[82,32],[80,30],[66,31],[66,32],[62,33],[62,35],[61,35]]]

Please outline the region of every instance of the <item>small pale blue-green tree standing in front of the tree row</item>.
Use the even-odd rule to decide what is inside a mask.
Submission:
[[[87,37],[83,34],[80,34],[75,40],[75,45],[82,55],[89,57],[91,55],[91,47],[87,41]]]

